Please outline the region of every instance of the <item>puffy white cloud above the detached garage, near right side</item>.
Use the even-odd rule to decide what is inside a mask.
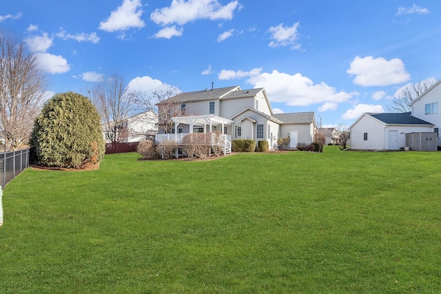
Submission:
[[[353,83],[363,87],[395,85],[410,79],[401,59],[387,61],[382,57],[374,59],[373,56],[356,56],[347,73],[356,75]]]

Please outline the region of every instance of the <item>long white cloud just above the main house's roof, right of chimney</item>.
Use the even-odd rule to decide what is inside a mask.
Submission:
[[[322,104],[321,111],[336,109],[338,103],[347,102],[357,92],[337,92],[336,88],[326,83],[314,84],[311,79],[301,74],[285,74],[273,70],[273,72],[262,72],[256,68],[250,72],[239,70],[223,70],[218,75],[219,79],[233,79],[248,77],[247,83],[254,87],[265,87],[268,97],[273,103],[286,103],[291,106],[309,106]]]

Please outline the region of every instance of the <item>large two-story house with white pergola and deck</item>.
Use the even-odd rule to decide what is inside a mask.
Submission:
[[[267,140],[277,147],[279,137],[291,138],[291,148],[298,142],[314,141],[314,112],[274,114],[264,88],[241,90],[239,86],[186,92],[158,103],[158,116],[170,114],[174,123],[170,136],[159,123],[156,141],[178,140],[185,134],[220,132],[227,140]],[[173,117],[172,114],[180,114]],[[179,135],[179,136],[178,136]]]

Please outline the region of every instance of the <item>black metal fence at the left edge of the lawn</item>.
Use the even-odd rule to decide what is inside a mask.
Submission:
[[[0,153],[0,185],[3,189],[8,182],[29,167],[30,149]]]

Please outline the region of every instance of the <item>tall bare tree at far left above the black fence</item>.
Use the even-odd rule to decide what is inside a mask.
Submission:
[[[47,85],[23,41],[0,30],[0,136],[6,148],[16,150],[28,143]]]

